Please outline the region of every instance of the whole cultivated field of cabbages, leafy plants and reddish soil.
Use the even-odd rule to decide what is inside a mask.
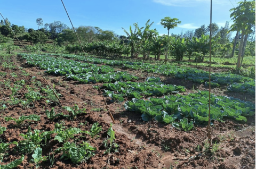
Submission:
[[[207,69],[89,57],[112,124],[84,56],[29,56],[61,105],[28,55],[2,53],[1,165],[255,168],[252,78],[213,70],[210,148]]]

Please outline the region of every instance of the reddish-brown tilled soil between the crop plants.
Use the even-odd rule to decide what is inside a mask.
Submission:
[[[16,60],[13,57],[13,62],[17,66],[25,67],[29,73],[28,76],[22,75],[21,69],[4,69],[0,67],[0,72],[6,72],[7,75],[0,79],[11,80],[11,87],[14,81],[25,80],[26,85],[35,88],[36,81],[42,83],[42,87],[46,87],[47,83],[39,75],[35,67],[26,65],[25,61]],[[13,78],[10,73],[14,72],[18,78]],[[43,71],[42,71],[43,72]],[[137,72],[133,72],[138,74]],[[149,74],[150,75],[150,74]],[[107,130],[112,122],[103,99],[99,92],[92,85],[83,85],[75,81],[67,81],[65,77],[57,77],[54,75],[45,74],[47,81],[55,85],[55,89],[62,95],[61,105],[59,103],[46,104],[46,99],[35,101],[29,108],[24,108],[21,104],[11,105],[7,100],[0,100],[0,105],[5,104],[7,108],[0,110],[1,126],[5,126],[7,130],[0,136],[3,142],[20,141],[23,138],[20,133],[26,133],[28,126],[31,130],[50,131],[54,129],[55,123],[63,123],[65,126],[80,128],[81,130],[89,131],[93,123],[98,122],[102,126],[102,131],[97,139],[92,139],[85,133],[77,134],[74,139],[69,141],[77,144],[83,141],[90,142],[93,147],[97,148],[95,156],[86,162],[76,165],[71,163],[71,160],[61,159],[61,154],[55,153],[55,162],[52,168],[255,168],[255,116],[248,117],[246,123],[237,123],[232,120],[225,122],[213,122],[212,138],[215,146],[218,145],[214,153],[203,151],[206,136],[206,126],[195,126],[195,129],[189,132],[184,132],[155,121],[143,122],[140,114],[125,111],[122,104],[112,103],[108,98],[108,106],[113,112],[115,124],[115,142],[118,143],[118,153],[104,154],[106,150],[103,147],[103,140],[107,139]],[[143,74],[146,78],[147,74]],[[31,80],[36,77],[35,80]],[[143,77],[141,77],[143,78]],[[162,79],[163,77],[161,77]],[[143,79],[142,79],[143,80]],[[182,81],[175,78],[166,78],[165,83],[173,85],[186,86],[187,92],[193,92],[194,83],[190,81]],[[18,99],[25,99],[27,92],[26,85],[18,91]],[[12,94],[9,87],[5,87],[1,83],[0,98],[10,97]],[[38,87],[39,88],[39,87]],[[196,89],[203,88],[197,86]],[[215,92],[223,95],[220,89]],[[214,92],[214,91],[213,91]],[[230,95],[230,92],[224,95]],[[235,95],[235,94],[234,94]],[[239,96],[241,94],[237,94]],[[237,98],[243,99],[243,96]],[[246,99],[255,103],[255,98],[246,96]],[[56,113],[68,112],[63,110],[62,106],[74,106],[77,104],[79,108],[86,108],[86,114],[79,114],[74,121],[69,121],[67,118],[59,117],[54,121],[49,121],[45,115],[45,110],[55,108]],[[41,121],[25,122],[20,128],[14,125],[13,121],[6,122],[5,116],[18,118],[21,115],[37,114],[41,116]],[[83,124],[82,124],[83,123]],[[55,135],[52,134],[51,139],[46,143],[42,143],[43,156],[48,156],[50,152],[54,152],[63,143],[54,140]],[[199,145],[199,149],[196,147]],[[21,154],[11,151],[15,146],[10,147],[9,156],[5,156],[1,164],[7,164],[17,159]],[[214,148],[214,146],[213,146]],[[52,151],[51,151],[52,150]],[[51,154],[51,153],[50,153]],[[25,155],[20,168],[34,168],[35,164],[30,162],[31,154]],[[49,160],[41,163],[38,168],[50,168]]]

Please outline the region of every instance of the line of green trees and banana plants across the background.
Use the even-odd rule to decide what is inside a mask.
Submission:
[[[217,23],[212,23],[212,54],[222,57],[238,55],[239,72],[243,57],[255,55],[255,1],[239,2],[230,12],[230,18],[234,22],[231,26],[226,22],[224,27],[219,28]],[[11,24],[7,18],[5,21],[20,39],[27,40],[31,45],[45,44],[47,40],[51,40],[59,46],[66,46],[68,52],[82,51],[74,30],[61,21],[44,24],[43,19],[38,18],[37,30]],[[6,43],[14,38],[6,22],[0,22],[0,43]],[[151,29],[153,23],[148,20],[143,27],[133,23],[129,29],[122,28],[125,33],[123,36],[118,36],[111,30],[92,26],[79,26],[75,30],[86,52],[95,55],[130,54],[132,58],[142,55],[145,60],[150,55],[154,55],[155,60],[159,60],[160,55],[165,55],[165,61],[170,56],[174,57],[175,61],[182,61],[186,55],[189,60],[193,58],[195,62],[203,62],[204,57],[209,54],[210,24],[203,24],[195,31],[188,30],[175,35],[170,33],[170,30],[177,27],[181,21],[165,17],[161,20],[161,25],[167,28],[167,35],[159,36],[156,29]],[[236,37],[231,38],[231,31],[237,32]]]

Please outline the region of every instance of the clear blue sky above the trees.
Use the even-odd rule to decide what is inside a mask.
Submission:
[[[178,18],[181,24],[170,30],[180,33],[193,30],[202,24],[210,23],[210,0],[63,0],[75,27],[94,26],[102,30],[113,30],[118,35],[125,35],[126,30],[135,22],[145,25],[148,19],[154,21],[151,28],[156,28],[160,35],[166,34],[159,22],[165,16]],[[237,6],[236,0],[213,0],[212,22],[225,26],[230,21],[229,10]],[[232,5],[233,4],[233,5]],[[25,28],[37,29],[36,19],[42,18],[44,23],[61,21],[71,26],[61,1],[26,0],[4,1],[0,12],[11,23]],[[233,33],[235,36],[235,33]]]

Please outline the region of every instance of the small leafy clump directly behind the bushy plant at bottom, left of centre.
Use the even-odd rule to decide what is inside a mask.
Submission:
[[[75,134],[81,133],[81,129],[78,128],[68,128],[67,130],[60,130],[57,132],[54,140],[59,142],[67,142],[69,139],[73,139]]]

